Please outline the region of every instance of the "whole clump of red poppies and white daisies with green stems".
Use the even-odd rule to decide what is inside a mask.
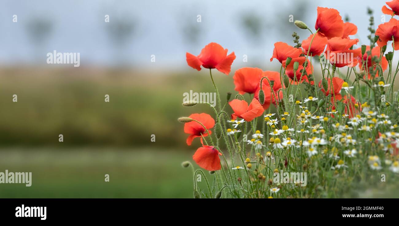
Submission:
[[[340,197],[356,185],[371,186],[370,179],[395,181],[399,96],[393,83],[399,69],[392,61],[399,49],[394,18],[399,0],[387,5],[391,9],[383,6],[382,12],[391,20],[377,29],[368,10],[370,35],[361,46],[350,37],[357,33],[355,24],[344,23],[336,9],[318,7],[314,29],[295,21],[309,30],[309,37],[300,42],[294,32],[295,46],[274,44],[270,61],[279,61],[280,71],[238,69],[233,75],[238,93],[228,93],[223,101],[212,69],[229,75],[234,52],[212,42],[197,56],[186,53],[190,67],[209,69],[217,93],[215,107],[183,103],[208,105],[212,116],[178,119],[189,134],[187,145],[196,139],[202,144],[193,155],[201,169],[190,161],[182,164],[192,167],[194,197]],[[315,67],[320,67],[320,81]],[[272,107],[277,113],[271,113]],[[204,182],[207,190],[202,191],[198,183]]]

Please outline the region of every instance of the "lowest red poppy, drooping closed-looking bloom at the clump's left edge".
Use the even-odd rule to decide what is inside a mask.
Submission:
[[[219,155],[222,155],[215,147],[202,145],[193,155],[194,161],[203,169],[214,171],[221,169]]]

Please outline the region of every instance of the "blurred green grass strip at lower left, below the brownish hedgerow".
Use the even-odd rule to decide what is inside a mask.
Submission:
[[[0,198],[191,198],[193,193],[192,170],[180,165],[190,153],[11,148],[0,155],[0,172],[32,172],[31,187],[0,184]]]

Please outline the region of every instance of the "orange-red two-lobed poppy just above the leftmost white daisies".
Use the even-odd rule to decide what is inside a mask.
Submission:
[[[252,99],[252,102],[249,104],[249,106],[245,100],[238,99],[230,101],[229,105],[234,111],[234,114],[231,115],[231,118],[235,119],[239,117],[243,118],[247,122],[251,122],[254,118],[261,116],[264,112],[261,103],[259,103],[259,101],[255,98]]]

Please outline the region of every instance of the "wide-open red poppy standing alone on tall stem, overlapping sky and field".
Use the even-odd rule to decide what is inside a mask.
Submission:
[[[231,70],[231,64],[235,59],[234,52],[227,55],[227,49],[221,45],[211,42],[206,45],[199,53],[194,56],[191,53],[186,53],[186,60],[188,66],[201,71],[202,67],[213,69],[216,68],[221,73],[228,75]]]

